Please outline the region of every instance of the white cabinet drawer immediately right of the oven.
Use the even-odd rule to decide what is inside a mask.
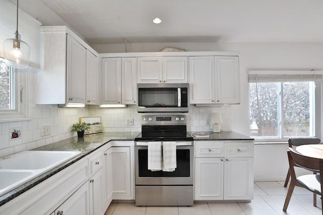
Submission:
[[[224,157],[223,141],[195,141],[195,157]]]

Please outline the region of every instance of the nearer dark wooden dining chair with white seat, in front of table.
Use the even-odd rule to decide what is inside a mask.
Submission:
[[[292,197],[292,193],[295,186],[304,187],[309,191],[322,195],[321,190],[323,188],[323,177],[320,177],[319,174],[308,174],[296,177],[294,167],[302,167],[309,170],[315,170],[317,172],[323,173],[323,159],[312,158],[301,155],[294,151],[292,148],[289,148],[287,151],[289,168],[291,173],[291,183],[288,187],[283,211],[287,210],[289,201]],[[323,199],[321,198],[321,202],[323,205]],[[322,210],[323,214],[323,210]]]

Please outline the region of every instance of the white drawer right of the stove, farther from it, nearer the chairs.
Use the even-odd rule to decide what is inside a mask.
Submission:
[[[224,143],[225,157],[253,157],[253,142],[235,141]]]

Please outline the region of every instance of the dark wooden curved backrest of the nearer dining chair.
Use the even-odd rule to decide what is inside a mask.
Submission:
[[[294,174],[294,176],[295,176],[294,166],[303,167],[308,170],[319,171],[319,162],[323,162],[323,159],[312,158],[312,157],[301,155],[297,153],[295,150],[293,150],[292,148],[289,148],[287,153],[288,153],[291,175]]]

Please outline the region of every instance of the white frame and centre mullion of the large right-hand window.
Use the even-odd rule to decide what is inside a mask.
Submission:
[[[280,78],[277,79],[277,77],[282,77],[283,75],[286,75],[285,80],[280,80]],[[315,82],[315,104],[313,105],[312,109],[315,112],[315,116],[313,117],[313,121],[310,121],[312,123],[312,133],[313,136],[321,137],[322,134],[322,77],[323,77],[323,71],[313,71],[313,70],[306,70],[306,71],[286,71],[286,70],[250,70],[248,72],[248,89],[249,89],[249,83],[251,83],[254,76],[260,77],[262,76],[262,80],[259,79],[259,83],[263,82],[296,82],[296,81],[314,81]],[[270,80],[277,80],[277,81],[270,81]],[[254,82],[254,81],[253,81]],[[281,84],[282,86],[282,84]],[[282,87],[281,94],[282,92]],[[248,90],[248,93],[250,90]],[[311,101],[310,97],[310,101]],[[282,113],[282,99],[283,96],[279,97],[278,105],[279,105],[279,122],[282,122],[283,119],[283,113]],[[249,96],[248,96],[248,102],[250,102]],[[312,103],[313,104],[313,103]],[[250,105],[249,105],[250,107]],[[250,114],[250,111],[249,111]],[[282,134],[282,123],[278,123],[278,136],[271,137],[271,136],[252,136],[250,133],[250,136],[252,136],[255,139],[255,142],[286,142],[288,140],[288,137],[283,137]]]

